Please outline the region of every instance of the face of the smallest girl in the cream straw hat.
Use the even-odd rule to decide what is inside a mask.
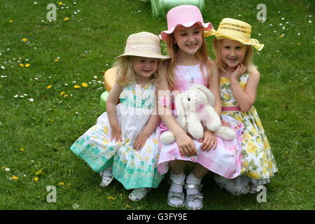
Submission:
[[[150,78],[158,69],[158,59],[151,57],[132,57],[132,68],[137,76]]]

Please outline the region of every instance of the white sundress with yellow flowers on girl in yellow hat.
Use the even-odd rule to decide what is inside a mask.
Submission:
[[[239,78],[239,84],[243,90],[248,77],[248,73],[245,73]],[[223,107],[238,106],[232,94],[229,78],[220,77],[220,90]],[[241,174],[248,178],[248,182],[269,183],[269,178],[277,172],[276,162],[255,107],[252,106],[246,113],[241,111],[224,111],[222,113],[239,120],[245,127],[244,140],[241,144]]]

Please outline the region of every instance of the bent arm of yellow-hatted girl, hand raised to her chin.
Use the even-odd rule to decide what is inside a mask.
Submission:
[[[244,90],[239,85],[239,77],[241,77],[246,71],[244,64],[239,64],[235,71],[230,75],[231,89],[233,96],[239,104],[239,108],[242,112],[247,112],[251,109],[255,103],[256,93],[260,80],[260,73],[254,71],[248,76],[248,81]]]

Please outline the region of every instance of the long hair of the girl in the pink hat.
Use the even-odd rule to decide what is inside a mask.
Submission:
[[[202,28],[202,27],[201,27]],[[174,73],[175,65],[176,65],[176,52],[179,50],[179,46],[174,43],[174,32],[167,36],[167,53],[171,57],[169,59],[169,66],[167,69],[167,81],[169,83],[169,87],[172,89],[176,82],[176,76]],[[204,38],[204,29],[202,28],[202,46],[196,52],[197,59],[200,59],[200,70],[202,71],[202,75],[204,76],[204,71],[202,69],[203,66],[206,66],[207,73],[210,75],[210,63],[209,63],[209,55],[207,50],[207,42]]]

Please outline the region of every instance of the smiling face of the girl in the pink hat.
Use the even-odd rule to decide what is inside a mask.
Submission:
[[[177,43],[179,50],[194,55],[202,46],[202,27],[177,27],[174,30],[174,43]]]

